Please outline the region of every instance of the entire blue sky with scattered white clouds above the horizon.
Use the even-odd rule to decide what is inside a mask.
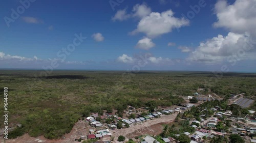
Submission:
[[[253,0],[0,4],[0,68],[256,70]],[[75,34],[87,38],[58,56]]]

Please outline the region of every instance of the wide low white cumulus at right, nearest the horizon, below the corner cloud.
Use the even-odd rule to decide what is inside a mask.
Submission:
[[[218,63],[230,56],[237,56],[237,60],[250,59],[253,47],[250,36],[247,34],[228,33],[226,37],[218,35],[206,42],[200,43],[195,51],[191,52],[187,60],[194,62]],[[255,43],[254,43],[255,44]]]

